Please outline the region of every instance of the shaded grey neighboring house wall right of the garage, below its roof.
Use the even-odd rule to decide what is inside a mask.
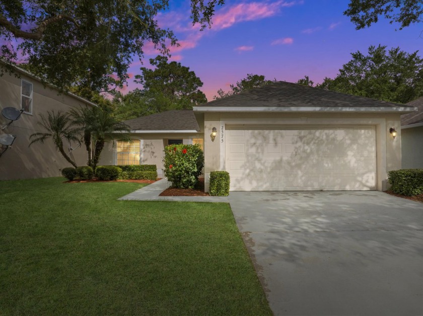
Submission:
[[[423,169],[423,126],[401,129],[403,169]]]

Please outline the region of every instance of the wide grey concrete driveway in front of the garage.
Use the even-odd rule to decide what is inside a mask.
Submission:
[[[229,200],[275,315],[423,315],[423,204],[378,191]]]

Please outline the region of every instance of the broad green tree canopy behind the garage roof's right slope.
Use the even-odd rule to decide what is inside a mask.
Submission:
[[[390,102],[406,103],[423,95],[423,59],[399,47],[370,46],[344,64],[333,79],[316,87]],[[304,79],[300,79],[304,80]]]

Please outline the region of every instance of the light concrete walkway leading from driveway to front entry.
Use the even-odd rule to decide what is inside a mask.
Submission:
[[[179,202],[223,202],[228,203],[226,196],[159,196],[171,183],[165,178],[146,185],[132,193],[119,198],[119,200],[132,201],[179,201]]]

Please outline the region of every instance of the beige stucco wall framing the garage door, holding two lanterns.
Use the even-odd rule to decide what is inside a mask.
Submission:
[[[225,125],[226,124],[289,124],[307,125],[371,125],[376,127],[377,189],[386,189],[387,172],[401,168],[400,114],[386,113],[204,113],[204,176],[208,190],[210,171],[225,170]],[[218,136],[213,141],[209,134],[213,127]],[[398,131],[395,139],[389,128]],[[223,141],[222,141],[223,136]]]

